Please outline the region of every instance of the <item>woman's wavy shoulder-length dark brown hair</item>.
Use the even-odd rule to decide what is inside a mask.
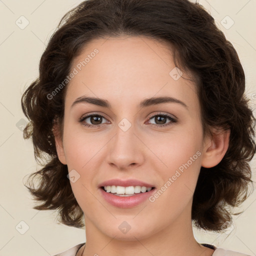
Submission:
[[[248,197],[248,184],[253,183],[249,161],[255,154],[255,118],[244,95],[244,71],[235,49],[214,18],[188,0],[86,0],[62,17],[40,58],[39,77],[21,99],[29,119],[23,136],[32,138],[38,162],[47,156],[26,186],[42,202],[33,208],[57,209],[61,223],[84,226],[52,133],[54,122],[62,123],[68,85],[53,97],[48,95],[70,73],[72,60],[86,43],[119,35],[144,35],[174,46],[176,66],[197,81],[204,134],[210,127],[230,129],[222,160],[214,167],[201,167],[192,202],[192,220],[198,228],[223,230],[223,224],[231,221],[229,208]],[[35,177],[39,177],[36,188]]]

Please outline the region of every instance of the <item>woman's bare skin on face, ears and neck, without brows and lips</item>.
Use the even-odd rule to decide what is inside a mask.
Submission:
[[[195,84],[182,78],[185,72],[178,80],[169,75],[175,65],[166,43],[145,36],[94,39],[73,59],[71,70],[94,48],[99,52],[68,84],[62,137],[55,132],[59,160],[80,175],[70,182],[86,226],[86,247],[78,255],[212,255],[193,236],[192,196],[200,167],[215,166],[224,156],[229,132],[203,138]],[[86,102],[71,107],[84,95],[107,99],[111,108]],[[174,97],[187,107],[175,102],[137,107],[152,96]],[[177,121],[166,118],[163,124],[170,125],[160,127],[151,117],[159,112]],[[78,121],[92,113],[104,116],[101,127]],[[123,118],[131,124],[127,131],[118,126]],[[90,118],[86,122],[92,124]],[[200,156],[154,202],[122,209],[100,194],[98,184],[111,178],[143,180],[158,190],[197,151]],[[125,234],[118,228],[123,221],[131,227]]]

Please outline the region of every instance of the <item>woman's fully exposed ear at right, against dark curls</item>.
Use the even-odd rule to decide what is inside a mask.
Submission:
[[[230,129],[212,131],[212,136],[204,140],[201,166],[210,168],[217,165],[223,158],[229,145]]]

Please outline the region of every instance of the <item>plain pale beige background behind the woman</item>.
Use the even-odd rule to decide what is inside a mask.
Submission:
[[[33,201],[22,180],[37,166],[31,141],[22,138],[25,117],[20,107],[24,88],[38,75],[38,61],[50,35],[62,15],[79,2],[81,0],[0,0],[0,255],[54,255],[85,241],[84,230],[57,224],[52,211],[32,209]],[[246,73],[247,96],[255,106],[256,1],[199,2],[236,48]],[[22,15],[25,18],[20,18]],[[21,19],[23,25],[26,20],[29,22],[23,29]],[[232,20],[234,24],[229,28]],[[255,159],[251,166],[252,179],[256,181]],[[234,229],[229,234],[194,229],[197,241],[255,255],[255,200],[254,190],[240,207],[245,209],[244,213],[234,216]],[[21,234],[22,231],[26,232]]]

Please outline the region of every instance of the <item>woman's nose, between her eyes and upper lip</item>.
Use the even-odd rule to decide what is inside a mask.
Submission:
[[[127,130],[116,125],[114,136],[108,142],[107,162],[117,169],[125,170],[140,166],[144,161],[145,145],[133,125]]]

